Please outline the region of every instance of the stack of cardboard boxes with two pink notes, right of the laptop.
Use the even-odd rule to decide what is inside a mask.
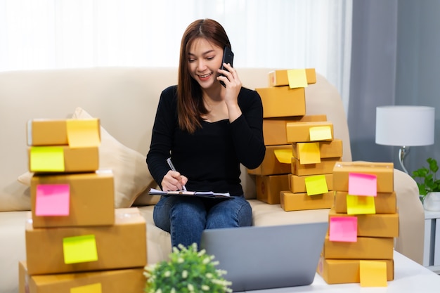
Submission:
[[[329,284],[386,286],[394,279],[399,214],[393,177],[392,163],[335,164],[335,204],[317,270]]]

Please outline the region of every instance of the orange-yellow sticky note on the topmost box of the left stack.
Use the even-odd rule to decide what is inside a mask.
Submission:
[[[67,140],[71,148],[99,146],[99,120],[67,119]]]

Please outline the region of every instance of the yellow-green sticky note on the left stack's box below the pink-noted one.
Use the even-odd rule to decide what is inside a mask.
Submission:
[[[97,261],[95,235],[82,235],[63,238],[64,263],[84,263]]]

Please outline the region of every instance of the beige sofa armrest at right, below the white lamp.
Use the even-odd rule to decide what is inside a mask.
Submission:
[[[394,190],[399,209],[399,237],[395,240],[394,249],[422,264],[425,210],[419,199],[417,183],[408,174],[394,169]]]

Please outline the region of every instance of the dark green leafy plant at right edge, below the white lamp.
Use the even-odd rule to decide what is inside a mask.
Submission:
[[[436,178],[439,166],[431,157],[426,160],[428,167],[422,167],[413,171],[413,178],[419,188],[420,199],[423,201],[428,193],[440,192],[440,179]]]

